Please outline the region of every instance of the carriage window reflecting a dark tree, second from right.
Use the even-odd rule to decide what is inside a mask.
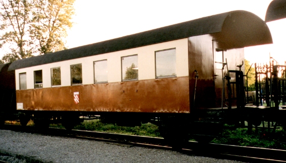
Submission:
[[[138,56],[121,57],[122,81],[138,80]]]

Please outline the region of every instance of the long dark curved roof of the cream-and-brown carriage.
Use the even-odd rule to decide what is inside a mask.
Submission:
[[[249,22],[247,23],[244,22],[244,25],[242,24],[243,27],[239,27],[239,23],[238,25],[235,25],[235,27],[225,25],[225,26],[228,26],[227,28],[231,27],[229,28],[230,31],[234,31],[234,32],[237,31],[236,35],[241,35],[241,32],[248,32],[247,37],[251,39],[252,43],[248,43],[244,41],[246,36],[241,35],[241,39],[243,39],[242,41],[244,41],[243,47],[251,46],[251,45],[258,45],[258,44],[265,44],[265,43],[272,43],[272,38],[267,38],[266,41],[262,41],[262,42],[261,41],[255,42],[256,40],[252,38],[252,35],[256,34],[256,32],[260,32],[259,34],[257,34],[257,36],[260,36],[261,33],[262,34],[266,33],[267,37],[269,36],[271,37],[269,29],[263,20],[261,20],[258,16],[250,12],[247,12],[247,11],[232,11],[232,12],[217,14],[217,15],[213,15],[209,17],[203,17],[203,18],[199,18],[199,19],[195,19],[195,20],[191,20],[191,21],[187,21],[183,23],[178,23],[178,24],[174,24],[174,25],[170,25],[166,27],[161,27],[161,28],[157,28],[157,29],[153,29],[153,30],[149,30],[149,31],[141,32],[141,33],[136,33],[136,34],[132,34],[132,35],[124,36],[124,37],[119,37],[119,38],[115,38],[115,39],[111,39],[107,41],[102,41],[98,43],[93,43],[93,44],[74,47],[74,48],[61,50],[61,51],[57,51],[53,53],[48,53],[42,56],[31,57],[31,58],[27,58],[23,60],[17,60],[11,64],[11,66],[9,67],[9,70],[16,70],[16,69],[32,67],[32,66],[37,66],[37,65],[44,65],[44,64],[54,63],[54,62],[100,55],[100,54],[107,53],[107,52],[125,50],[125,49],[160,43],[160,42],[188,38],[191,36],[218,33],[222,31],[226,18],[231,17],[232,15],[240,15],[241,18],[239,19],[239,21],[243,21],[244,19],[248,19],[248,17],[251,17],[251,20],[249,22],[251,23],[259,22],[260,24],[258,24],[257,26],[262,26],[261,28],[263,28],[262,31],[257,30],[257,29],[255,29],[256,31],[253,31],[253,29],[252,30],[246,29],[248,28]],[[235,20],[231,18],[228,18],[227,20],[229,22],[235,22]],[[236,23],[237,22],[238,20],[236,21]],[[239,28],[243,28],[243,31],[241,31],[241,29]]]

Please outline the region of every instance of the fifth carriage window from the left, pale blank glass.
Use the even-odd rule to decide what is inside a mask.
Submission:
[[[107,60],[94,62],[94,83],[107,83]]]

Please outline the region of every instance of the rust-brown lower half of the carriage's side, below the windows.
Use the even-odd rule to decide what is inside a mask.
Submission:
[[[74,102],[79,92],[79,102]],[[189,113],[188,77],[17,90],[24,110]]]

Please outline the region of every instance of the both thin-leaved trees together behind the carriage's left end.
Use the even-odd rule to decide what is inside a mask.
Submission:
[[[74,1],[0,0],[0,48],[10,49],[1,62],[65,49]]]

